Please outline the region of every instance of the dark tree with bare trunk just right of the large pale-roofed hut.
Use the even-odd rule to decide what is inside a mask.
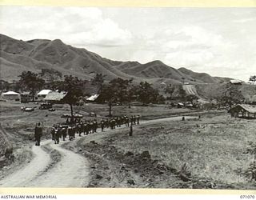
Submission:
[[[66,91],[66,97],[63,102],[70,105],[71,119],[74,118],[73,106],[83,94],[84,82],[77,77],[65,76],[64,81],[56,82],[55,88],[59,91]]]

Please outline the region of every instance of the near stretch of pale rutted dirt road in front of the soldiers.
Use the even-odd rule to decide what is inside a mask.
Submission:
[[[48,146],[50,150],[57,151],[60,161],[50,166],[50,151],[42,147]],[[41,146],[33,146],[34,158],[14,174],[2,179],[2,187],[81,187],[89,182],[88,162],[79,154],[65,150],[54,145],[52,141],[44,141]]]

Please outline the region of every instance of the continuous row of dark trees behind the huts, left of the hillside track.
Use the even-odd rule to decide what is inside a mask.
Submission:
[[[159,94],[157,89],[149,82],[140,82],[134,84],[132,79],[114,78],[110,82],[106,82],[106,76],[103,74],[96,74],[90,81],[82,80],[72,75],[65,75],[56,70],[42,70],[41,73],[34,73],[31,71],[23,71],[18,76],[18,82],[8,84],[8,82],[1,82],[1,87],[10,87],[12,85],[16,91],[30,91],[32,101],[34,101],[39,90],[50,89],[65,91],[66,97],[64,102],[70,105],[71,115],[73,116],[73,106],[83,97],[88,96],[86,91],[86,84],[98,88],[100,103],[107,103],[111,108],[116,104],[127,104],[131,102],[141,102],[142,105],[150,103],[162,103],[165,98]]]

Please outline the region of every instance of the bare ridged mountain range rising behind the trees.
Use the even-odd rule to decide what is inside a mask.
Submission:
[[[59,39],[22,41],[0,34],[0,44],[0,79],[9,82],[18,80],[18,75],[24,70],[38,73],[42,69],[54,69],[63,75],[71,74],[88,80],[95,74],[106,75],[106,80],[132,78],[134,82],[147,81],[155,86],[162,83],[204,84],[230,80],[186,68],[175,69],[158,60],[146,64],[113,61],[86,49],[66,45]]]

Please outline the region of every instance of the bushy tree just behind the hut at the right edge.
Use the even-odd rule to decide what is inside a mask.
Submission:
[[[227,110],[230,110],[235,104],[242,103],[245,98],[242,92],[238,90],[238,86],[227,83],[225,90],[222,92],[222,96],[217,100],[221,106],[226,106]]]

